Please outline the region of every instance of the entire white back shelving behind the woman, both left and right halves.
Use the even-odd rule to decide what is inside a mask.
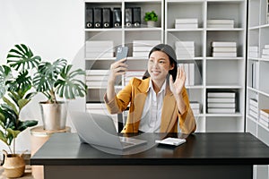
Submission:
[[[128,46],[128,66],[133,71],[145,71],[147,56],[134,57],[134,40],[159,40],[176,48],[176,43],[193,44],[187,56],[180,56],[178,63],[194,66],[192,82],[187,85],[191,101],[199,102],[200,113],[195,115],[197,132],[244,132],[245,126],[245,72],[246,72],[246,0],[103,0],[85,1],[87,7],[114,7],[121,9],[121,26],[109,29],[84,30],[85,42],[110,40],[113,42],[113,56],[91,57],[85,55],[85,68],[91,76],[94,70],[108,72],[115,60],[117,46]],[[126,8],[141,7],[142,25],[139,28],[125,26]],[[159,15],[157,27],[148,28],[143,14],[154,10]],[[195,24],[176,29],[175,21],[187,19]],[[181,20],[180,20],[181,19]],[[232,27],[210,26],[212,20],[232,20]],[[177,20],[178,21],[178,20]],[[184,20],[183,20],[184,21]],[[236,56],[213,57],[212,42],[235,42]],[[87,48],[87,47],[86,47]],[[86,50],[85,50],[86,51]],[[86,54],[86,53],[85,53]],[[189,67],[188,67],[189,68]],[[95,71],[97,72],[97,71]],[[106,75],[101,75],[98,86],[89,85],[86,108],[106,112],[103,94],[106,91]],[[124,77],[123,77],[124,78]],[[103,84],[103,85],[102,85]],[[117,90],[125,85],[124,79],[117,82]],[[233,91],[236,94],[235,113],[208,113],[207,93]],[[97,109],[99,108],[99,109]],[[116,118],[116,116],[114,116]]]

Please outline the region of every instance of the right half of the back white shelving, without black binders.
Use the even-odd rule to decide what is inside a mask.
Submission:
[[[245,67],[247,1],[167,0],[165,3],[165,43],[195,41],[195,57],[178,63],[195,64],[195,85],[187,86],[191,101],[202,105],[196,116],[199,132],[243,132],[245,125]],[[195,29],[175,29],[175,19],[197,19]],[[207,28],[207,20],[234,20],[233,28]],[[236,57],[213,57],[213,41],[235,41]],[[235,114],[206,112],[206,94],[212,90],[233,90],[237,94]]]

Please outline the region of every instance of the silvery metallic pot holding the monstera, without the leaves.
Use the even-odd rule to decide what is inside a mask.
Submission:
[[[67,106],[65,102],[39,103],[44,130],[58,131],[65,129]]]

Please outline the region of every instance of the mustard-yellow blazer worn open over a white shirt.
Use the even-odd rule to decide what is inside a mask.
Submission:
[[[104,99],[110,114],[122,113],[130,103],[126,125],[122,132],[138,132],[150,80],[151,78],[145,80],[133,78],[111,101],[107,100],[105,94]],[[184,114],[179,114],[177,101],[169,90],[169,85],[167,86],[166,94],[163,98],[160,132],[178,132],[178,119],[181,132],[195,132],[195,117],[189,106],[187,90],[185,88],[183,90],[183,98],[187,105],[187,110]]]

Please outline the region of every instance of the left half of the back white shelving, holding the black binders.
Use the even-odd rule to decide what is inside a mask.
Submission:
[[[85,1],[85,9],[87,7],[110,7],[111,10],[115,7],[121,9],[121,27],[109,28],[109,29],[85,29],[85,42],[89,40],[111,40],[113,41],[114,55],[111,58],[86,58],[85,68],[86,70],[108,70],[110,64],[114,63],[116,59],[116,49],[118,46],[129,47],[127,64],[129,70],[146,70],[147,58],[146,57],[133,57],[133,40],[160,40],[163,42],[163,4],[162,0],[93,0]],[[127,7],[141,7],[141,19],[142,25],[139,28],[127,28],[125,26],[125,9]],[[143,14],[154,10],[158,14],[159,20],[156,22],[156,27],[148,28],[146,22],[143,21]],[[101,79],[100,79],[101,80]],[[106,81],[103,79],[103,81]],[[120,90],[124,84],[121,80],[117,82],[116,90]],[[89,86],[88,96],[86,98],[86,110],[91,113],[105,113],[107,115],[107,109],[103,103],[104,93],[106,92],[107,85],[103,82],[98,87]],[[117,115],[112,115],[117,123]],[[116,125],[117,126],[117,125]]]

